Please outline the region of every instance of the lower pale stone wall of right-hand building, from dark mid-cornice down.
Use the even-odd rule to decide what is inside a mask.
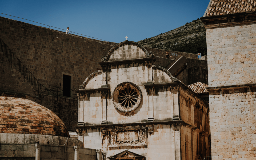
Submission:
[[[255,95],[255,87],[210,92],[213,159],[255,159]]]

